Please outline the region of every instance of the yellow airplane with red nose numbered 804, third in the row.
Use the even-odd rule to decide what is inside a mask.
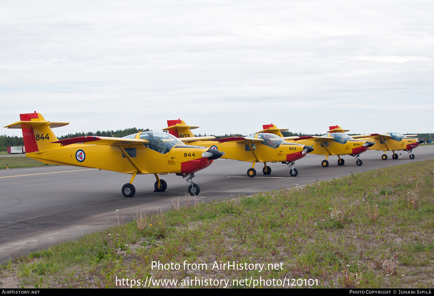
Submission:
[[[287,129],[279,129],[276,125],[263,125],[264,130],[270,131],[275,135],[279,135],[283,137],[280,131],[286,131]],[[342,129],[339,125],[330,126],[327,135],[323,135],[320,137],[317,136],[304,136],[304,137],[296,137],[293,140],[294,142],[300,142],[305,145],[312,146],[315,150],[310,152],[311,154],[316,155],[326,155],[325,160],[321,162],[321,165],[325,168],[329,166],[329,158],[330,155],[338,156],[338,165],[344,165],[345,160],[341,158],[341,155],[351,155],[357,159],[356,164],[362,165],[363,161],[359,159],[359,156],[362,152],[368,150],[369,147],[374,145],[374,143],[366,140],[355,140],[349,135],[345,134],[349,130]]]

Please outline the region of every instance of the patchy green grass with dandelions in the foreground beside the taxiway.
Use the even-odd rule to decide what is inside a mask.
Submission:
[[[17,257],[3,265],[0,281],[12,275],[26,287],[115,287],[116,276],[178,283],[261,276],[317,279],[319,287],[432,287],[433,181],[428,160],[230,201],[181,198],[178,207],[177,198],[163,214],[150,210],[138,222]],[[151,270],[158,260],[181,269]],[[208,270],[183,270],[184,260]],[[283,263],[283,270],[210,270],[228,260]]]

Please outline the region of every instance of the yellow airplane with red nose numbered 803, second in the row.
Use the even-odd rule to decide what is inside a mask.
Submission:
[[[193,135],[190,128],[191,126],[187,125],[183,120],[178,119],[168,120],[168,127],[164,128],[164,130],[175,136],[181,137],[182,135],[182,137],[188,137]],[[252,167],[247,170],[247,176],[249,177],[256,176],[254,167],[257,162],[264,163],[262,172],[267,175],[271,174],[271,168],[267,166],[267,162],[282,162],[291,165],[292,169],[289,171],[289,174],[295,177],[298,171],[294,168],[294,162],[297,159],[303,158],[307,152],[313,151],[313,148],[310,146],[287,143],[284,141],[286,138],[281,138],[270,133],[258,132],[247,137],[230,137],[212,141],[197,141],[195,139],[192,137],[180,138],[181,141],[191,143],[192,145],[224,151],[224,156],[221,158],[252,162]]]

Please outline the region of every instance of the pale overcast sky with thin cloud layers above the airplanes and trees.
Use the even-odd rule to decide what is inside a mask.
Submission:
[[[2,1],[1,126],[434,132],[433,1]],[[3,128],[7,135],[20,130]]]

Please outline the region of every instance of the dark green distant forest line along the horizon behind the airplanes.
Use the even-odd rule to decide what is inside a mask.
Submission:
[[[63,140],[63,139],[69,139],[69,138],[76,138],[76,137],[84,137],[84,136],[101,136],[101,137],[117,137],[117,138],[122,138],[125,137],[127,135],[131,135],[134,134],[138,131],[142,131],[142,132],[148,132],[149,128],[125,128],[123,130],[118,129],[117,131],[97,131],[97,132],[76,132],[75,134],[68,134],[68,135],[64,135],[64,136],[60,136],[58,137],[59,140]],[[302,132],[299,133],[294,133],[294,132],[282,132],[284,137],[293,137],[293,136],[321,136],[324,134],[303,134]],[[415,135],[411,134],[411,133],[406,133],[407,135]],[[194,135],[195,137],[201,137],[201,136],[206,136],[207,134],[201,135]],[[349,135],[359,135],[359,134],[349,134]],[[418,138],[422,138],[422,139],[429,139],[430,138],[430,134],[417,134]],[[229,138],[229,137],[244,137],[247,135],[241,135],[241,134],[225,134],[225,135],[209,135],[209,136],[214,136],[216,137],[216,139],[221,139],[221,138]],[[434,139],[434,135],[432,135],[432,139]],[[7,136],[7,135],[0,135],[0,151],[6,151],[8,146],[23,146],[24,142],[23,142],[23,137],[18,137],[18,136]]]

